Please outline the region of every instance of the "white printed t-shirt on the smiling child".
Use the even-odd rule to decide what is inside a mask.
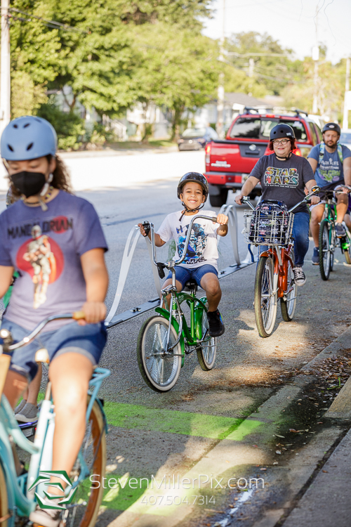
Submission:
[[[179,260],[186,251],[185,260],[180,265],[188,269],[194,269],[206,264],[213,266],[218,270],[218,249],[217,249],[217,229],[219,224],[211,220],[199,218],[192,225],[192,234],[188,247],[185,247],[185,238],[187,238],[187,229],[190,221],[194,216],[183,216],[179,221],[182,211],[168,214],[161,224],[157,234],[161,240],[168,242],[173,238],[176,241],[176,254],[173,260]],[[200,211],[199,214],[213,218],[217,216],[216,212]],[[196,215],[195,215],[196,217]]]

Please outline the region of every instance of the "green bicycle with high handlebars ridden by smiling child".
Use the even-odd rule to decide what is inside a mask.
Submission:
[[[189,246],[194,219],[204,218],[217,221],[208,216],[195,216],[187,230],[184,247]],[[176,266],[185,259],[186,251],[178,261],[168,263],[156,261],[154,245],[154,226],[150,223],[152,258],[159,270],[159,277],[164,278],[164,269],[172,273],[172,284],[161,289],[163,305],[168,306],[166,297],[171,294],[171,313],[166,307],[156,308],[158,315],[145,321],[138,336],[138,365],[140,373],[154,391],[168,391],[176,384],[180,370],[184,365],[185,355],[194,350],[202,370],[212,370],[216,360],[216,338],[210,337],[207,320],[206,297],[197,298],[197,284],[187,282],[185,290],[177,292]],[[189,292],[188,292],[189,291]],[[186,302],[190,308],[190,325],[181,308]]]

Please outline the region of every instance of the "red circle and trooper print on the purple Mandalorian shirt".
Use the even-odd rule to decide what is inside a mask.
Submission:
[[[32,277],[33,308],[37,309],[46,302],[48,285],[60,277],[64,257],[60,246],[48,235],[43,234],[41,226],[32,226],[31,236],[32,239],[24,242],[18,249],[16,264],[21,271]]]

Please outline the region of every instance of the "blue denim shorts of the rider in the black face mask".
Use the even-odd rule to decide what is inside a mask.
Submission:
[[[2,328],[11,332],[14,343],[19,342],[29,334],[29,330],[6,320],[6,318],[1,320]],[[11,358],[10,370],[27,377],[29,381],[34,379],[38,370],[35,353],[41,348],[48,350],[50,360],[63,353],[73,352],[84,355],[95,366],[100,360],[106,340],[107,332],[104,323],[81,326],[77,322],[72,322],[58,330],[41,332],[27,346],[15,349]]]

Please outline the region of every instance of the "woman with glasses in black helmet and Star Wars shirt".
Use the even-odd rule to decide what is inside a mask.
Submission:
[[[248,196],[258,183],[261,184],[263,200],[278,200],[291,209],[305,197],[305,187],[310,192],[316,185],[310,164],[304,157],[296,155],[296,138],[289,124],[277,124],[270,131],[268,145],[274,153],[263,155],[251,171],[249,178],[241,188],[241,193],[235,197],[235,202],[241,204],[241,199]],[[319,197],[311,197],[312,204],[319,202]],[[308,230],[310,214],[307,205],[301,204],[293,211],[293,240],[295,267],[293,275],[296,285],[305,284],[303,261],[308,250]]]

